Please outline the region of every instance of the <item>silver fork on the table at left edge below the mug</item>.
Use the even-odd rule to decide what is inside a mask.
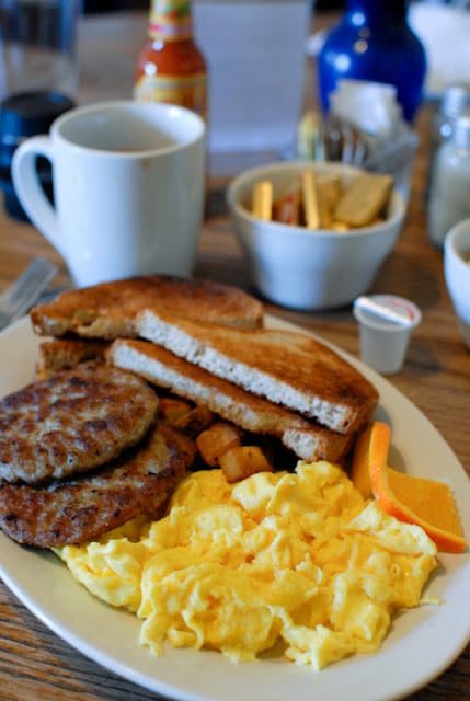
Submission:
[[[33,263],[0,295],[0,330],[24,314],[57,273],[57,265],[44,258]]]

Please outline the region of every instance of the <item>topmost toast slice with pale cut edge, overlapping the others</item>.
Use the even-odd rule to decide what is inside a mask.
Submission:
[[[222,379],[348,434],[371,417],[376,388],[352,365],[313,337],[294,332],[221,327],[147,309],[136,329]]]

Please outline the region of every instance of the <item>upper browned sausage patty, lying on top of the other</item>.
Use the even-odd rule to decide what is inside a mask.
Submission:
[[[37,484],[105,464],[148,430],[158,398],[100,363],[61,370],[0,401],[0,479]]]

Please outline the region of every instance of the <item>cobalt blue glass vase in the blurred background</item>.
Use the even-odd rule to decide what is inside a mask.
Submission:
[[[340,23],[330,32],[318,57],[320,102],[342,78],[390,83],[403,116],[412,122],[423,96],[426,56],[408,24],[406,0],[347,0]]]

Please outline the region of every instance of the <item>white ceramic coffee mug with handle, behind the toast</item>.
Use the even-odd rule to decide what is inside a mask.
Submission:
[[[205,193],[205,125],[183,107],[131,101],[71,110],[14,152],[16,195],[79,287],[191,275]],[[37,174],[53,165],[54,206]]]

